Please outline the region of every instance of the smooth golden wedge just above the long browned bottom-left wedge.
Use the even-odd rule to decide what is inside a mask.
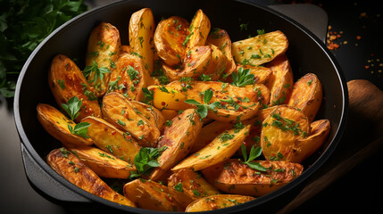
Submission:
[[[130,171],[136,170],[128,162],[92,146],[69,147],[69,150],[99,177],[128,179]]]

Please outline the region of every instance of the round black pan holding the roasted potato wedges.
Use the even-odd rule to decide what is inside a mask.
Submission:
[[[304,173],[279,190],[259,197],[253,202],[219,211],[273,212],[281,208],[299,193],[307,178],[328,160],[337,146],[346,125],[348,104],[346,81],[334,57],[309,30],[270,8],[237,1],[123,1],[85,12],[54,30],[54,33],[38,45],[29,56],[21,70],[14,97],[14,117],[21,137],[21,152],[27,177],[32,186],[37,192],[54,199],[55,202],[66,202],[65,204],[70,202],[72,206],[80,204],[80,207],[101,206],[112,211],[154,213],[152,210],[135,209],[106,201],[79,189],[59,176],[46,164],[45,157],[62,145],[42,128],[37,120],[36,111],[37,103],[50,103],[59,108],[47,84],[47,71],[55,54],[63,53],[71,59],[77,59],[79,68],[83,69],[87,37],[91,29],[100,21],[110,22],[120,29],[121,43],[128,45],[130,15],[144,7],[152,9],[156,23],[162,17],[172,15],[179,15],[190,21],[195,12],[202,9],[212,22],[212,28],[226,29],[232,41],[249,35],[255,36],[257,29],[265,29],[265,32],[279,29],[289,40],[286,54],[295,78],[312,72],[321,79],[325,99],[322,101],[317,119],[329,119],[331,132],[320,151],[304,161]],[[242,23],[248,24],[246,32],[241,32],[239,28]]]

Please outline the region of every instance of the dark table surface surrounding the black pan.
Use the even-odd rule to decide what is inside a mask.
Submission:
[[[110,1],[87,1],[106,4]],[[346,80],[367,79],[383,90],[383,27],[379,1],[254,1],[258,4],[309,3],[321,6],[329,15],[329,33],[339,34],[332,50]],[[25,175],[21,145],[12,114],[12,99],[0,95],[0,207],[2,213],[70,213],[65,207],[37,193]],[[383,106],[382,106],[383,107]],[[337,151],[339,152],[339,151]],[[379,153],[360,164],[307,200],[292,213],[372,213],[380,210],[382,184],[379,181]]]

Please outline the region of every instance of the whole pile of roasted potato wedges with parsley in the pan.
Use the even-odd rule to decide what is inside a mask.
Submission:
[[[281,31],[232,43],[202,10],[155,24],[144,8],[127,24],[129,44],[112,23],[89,32],[84,68],[54,56],[57,106],[37,104],[62,142],[46,161],[74,185],[146,210],[222,209],[287,185],[326,141],[321,81],[294,80]]]

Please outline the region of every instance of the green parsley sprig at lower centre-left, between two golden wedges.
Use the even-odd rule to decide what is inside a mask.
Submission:
[[[159,167],[160,163],[157,158],[165,151],[167,147],[161,147],[159,149],[151,147],[142,147],[134,158],[134,165],[136,171],[130,172],[130,179],[147,175],[152,169]]]

